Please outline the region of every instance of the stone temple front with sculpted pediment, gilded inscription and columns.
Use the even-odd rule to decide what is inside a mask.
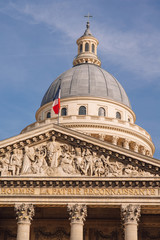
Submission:
[[[0,239],[158,239],[158,160],[57,125],[0,151]]]

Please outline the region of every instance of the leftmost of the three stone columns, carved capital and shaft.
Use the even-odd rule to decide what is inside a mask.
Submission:
[[[17,215],[17,240],[29,240],[30,225],[34,216],[32,204],[16,204],[15,211]]]

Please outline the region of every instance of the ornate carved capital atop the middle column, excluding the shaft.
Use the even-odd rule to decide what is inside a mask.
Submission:
[[[69,204],[67,208],[71,223],[73,222],[83,222],[87,216],[87,207],[86,205],[81,204]]]

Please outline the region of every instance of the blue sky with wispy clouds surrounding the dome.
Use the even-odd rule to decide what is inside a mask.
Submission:
[[[126,90],[160,159],[158,0],[1,0],[0,139],[35,121],[51,82],[72,67],[88,12],[102,68]]]

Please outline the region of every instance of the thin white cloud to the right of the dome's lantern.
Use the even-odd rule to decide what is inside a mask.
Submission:
[[[160,77],[160,32],[122,32],[107,28],[98,36],[101,54],[135,75],[153,81]]]

